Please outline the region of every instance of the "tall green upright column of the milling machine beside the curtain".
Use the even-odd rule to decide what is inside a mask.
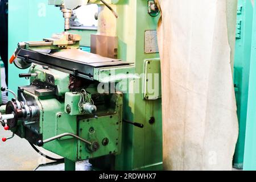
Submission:
[[[144,60],[159,58],[158,53],[144,53],[144,32],[156,30],[159,16],[148,15],[145,0],[119,1],[117,14],[118,58],[135,61],[140,75]],[[143,123],[144,129],[123,125],[122,154],[116,156],[115,169],[162,169],[162,101],[144,100],[140,92],[125,94],[123,102],[123,117]],[[151,117],[153,124],[148,122]]]

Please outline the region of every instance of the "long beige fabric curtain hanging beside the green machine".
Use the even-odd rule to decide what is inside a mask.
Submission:
[[[237,1],[158,5],[164,169],[230,170],[238,137],[232,76]]]

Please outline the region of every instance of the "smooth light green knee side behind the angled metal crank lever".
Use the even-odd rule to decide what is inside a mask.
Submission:
[[[64,112],[64,103],[55,98],[39,100],[42,105],[40,125],[42,126],[43,139],[55,137],[61,133],[77,133],[76,117]],[[65,138],[44,144],[46,150],[61,155],[64,158],[77,160],[77,140]]]

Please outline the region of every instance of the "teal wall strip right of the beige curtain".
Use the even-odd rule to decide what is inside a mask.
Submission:
[[[243,167],[243,170],[256,170],[255,8],[256,4],[249,0],[239,1],[237,33],[241,32],[241,34],[237,34],[234,83],[236,85],[240,135],[234,156],[234,166]]]

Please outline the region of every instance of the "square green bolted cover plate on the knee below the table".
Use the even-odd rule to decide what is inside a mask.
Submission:
[[[121,96],[121,95],[120,95]],[[115,94],[115,101],[118,102],[119,109],[122,109],[122,97]],[[90,131],[92,130],[93,131]],[[87,138],[91,141],[100,142],[100,149],[96,152],[88,152],[85,144],[79,141],[78,158],[89,159],[97,158],[104,155],[121,153],[121,134],[122,134],[122,112],[117,110],[116,114],[108,117],[82,119],[79,122],[79,131],[82,138]],[[108,140],[108,144],[103,145],[104,140]]]

